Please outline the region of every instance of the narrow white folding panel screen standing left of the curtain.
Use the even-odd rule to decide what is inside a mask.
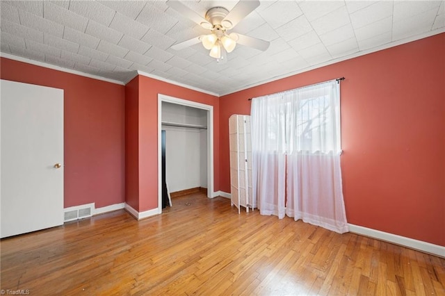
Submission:
[[[231,204],[249,212],[257,203],[252,197],[252,138],[250,116],[232,115],[229,118]]]

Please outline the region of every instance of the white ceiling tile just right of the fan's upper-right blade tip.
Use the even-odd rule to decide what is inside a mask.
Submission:
[[[261,15],[272,28],[278,28],[302,15],[302,11],[296,2],[276,1],[268,8],[262,10],[259,15]]]

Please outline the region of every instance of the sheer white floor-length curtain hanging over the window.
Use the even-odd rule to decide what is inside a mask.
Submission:
[[[254,195],[262,215],[344,233],[337,81],[252,100]]]

